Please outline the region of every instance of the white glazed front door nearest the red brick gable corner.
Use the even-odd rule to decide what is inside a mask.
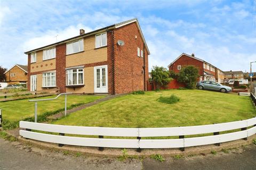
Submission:
[[[94,67],[94,92],[108,92],[108,66],[101,65]]]

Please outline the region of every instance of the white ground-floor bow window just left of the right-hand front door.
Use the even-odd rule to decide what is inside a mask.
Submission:
[[[70,69],[66,71],[66,84],[83,85],[84,84],[84,69]]]

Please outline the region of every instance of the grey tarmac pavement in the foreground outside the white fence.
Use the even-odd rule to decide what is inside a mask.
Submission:
[[[0,169],[256,169],[256,145],[228,150],[228,153],[201,154],[186,158],[95,157],[44,150],[0,138]]]

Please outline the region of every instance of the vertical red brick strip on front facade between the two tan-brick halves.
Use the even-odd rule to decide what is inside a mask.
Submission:
[[[56,46],[56,86],[66,92],[66,44]]]

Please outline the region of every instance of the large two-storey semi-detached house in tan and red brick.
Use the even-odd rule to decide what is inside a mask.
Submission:
[[[25,52],[28,87],[60,92],[124,94],[147,90],[150,54],[137,19]]]

